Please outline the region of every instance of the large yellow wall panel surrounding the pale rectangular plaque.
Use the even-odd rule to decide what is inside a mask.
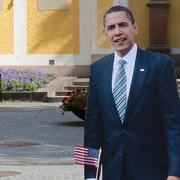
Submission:
[[[28,1],[29,54],[79,54],[79,0],[69,0],[68,11],[39,11]]]

